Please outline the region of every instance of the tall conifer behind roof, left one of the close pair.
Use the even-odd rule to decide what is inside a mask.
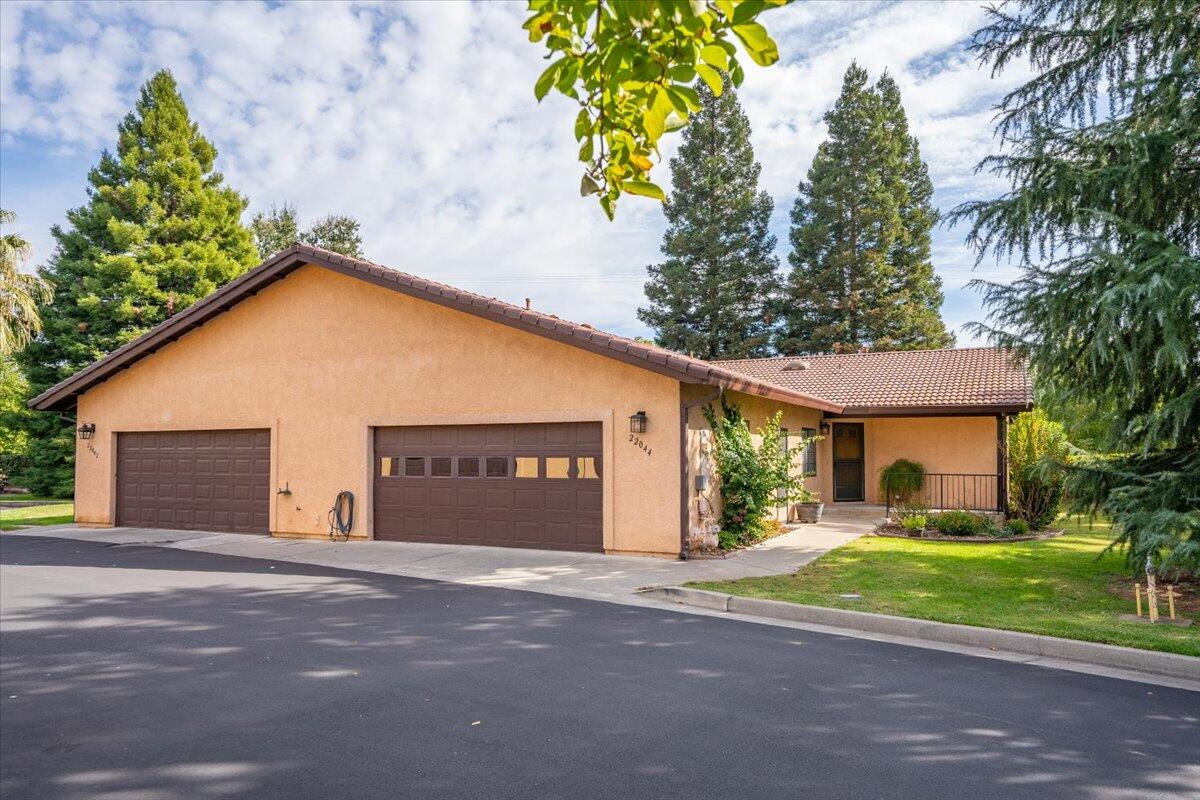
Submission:
[[[649,305],[637,315],[672,350],[701,359],[767,355],[780,289],[768,230],[774,205],[758,191],[750,121],[728,80],[720,96],[697,89],[702,108],[671,160],[666,259],[647,267]]]

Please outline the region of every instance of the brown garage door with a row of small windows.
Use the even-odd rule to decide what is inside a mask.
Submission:
[[[376,428],[374,536],[602,551],[599,422]]]

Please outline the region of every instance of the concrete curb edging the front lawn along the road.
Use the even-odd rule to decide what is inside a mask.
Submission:
[[[802,606],[779,600],[739,597],[719,591],[688,589],[685,587],[653,587],[641,590],[642,595],[666,600],[684,606],[695,606],[730,614],[748,614],[781,619],[790,622],[828,625],[869,633],[883,633],[942,644],[960,644],[976,648],[1003,650],[1044,658],[1081,661],[1099,667],[1130,669],[1134,672],[1181,678],[1200,682],[1200,658],[1175,652],[1156,652],[1114,644],[1060,639],[1054,636],[1000,631],[973,625],[952,625],[907,616],[889,616],[841,608]]]

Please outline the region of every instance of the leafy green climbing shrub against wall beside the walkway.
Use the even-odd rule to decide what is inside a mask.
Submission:
[[[713,429],[713,459],[721,482],[722,548],[752,545],[762,539],[767,515],[780,500],[815,499],[804,487],[806,475],[793,471],[793,467],[804,447],[818,437],[806,438],[799,447],[785,450],[785,433],[779,427],[782,414],[775,414],[758,428],[762,440],[755,446],[742,409],[724,397],[721,416],[718,417],[709,405],[704,408],[704,417]]]

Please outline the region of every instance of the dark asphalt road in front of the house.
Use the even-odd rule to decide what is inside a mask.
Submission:
[[[5,800],[1200,795],[1198,693],[24,534],[0,690]]]

